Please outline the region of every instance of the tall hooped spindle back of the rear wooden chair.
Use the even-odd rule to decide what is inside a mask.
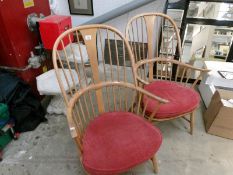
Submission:
[[[129,40],[135,62],[153,58],[174,59],[181,56],[181,40],[175,22],[162,13],[143,13],[129,20],[126,26],[126,38]],[[178,53],[176,53],[178,48]],[[153,79],[153,64],[142,70],[149,72]]]

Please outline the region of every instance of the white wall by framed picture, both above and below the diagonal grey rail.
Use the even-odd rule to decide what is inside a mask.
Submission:
[[[71,15],[73,26],[81,25],[93,18],[103,15],[115,8],[127,4],[133,0],[93,0],[94,16]],[[58,15],[70,15],[68,0],[50,0],[54,3],[54,12]],[[126,26],[127,21],[136,14],[144,12],[162,12],[165,6],[165,0],[155,0],[145,6],[130,11],[122,16],[112,19],[106,24],[117,27],[122,32]]]

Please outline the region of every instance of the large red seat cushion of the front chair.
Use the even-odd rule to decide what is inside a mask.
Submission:
[[[150,159],[159,149],[159,129],[133,113],[108,112],[87,126],[83,165],[92,175],[117,174]]]

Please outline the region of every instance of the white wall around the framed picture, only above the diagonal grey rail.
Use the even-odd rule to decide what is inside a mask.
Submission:
[[[72,24],[73,26],[78,26],[131,1],[133,0],[93,0],[94,16],[71,15]],[[70,15],[68,0],[50,0],[51,2],[53,3],[55,14]]]

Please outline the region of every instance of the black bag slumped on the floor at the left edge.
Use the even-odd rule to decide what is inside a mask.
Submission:
[[[9,106],[16,132],[32,131],[47,121],[45,111],[30,86],[12,74],[0,73],[0,102]]]

